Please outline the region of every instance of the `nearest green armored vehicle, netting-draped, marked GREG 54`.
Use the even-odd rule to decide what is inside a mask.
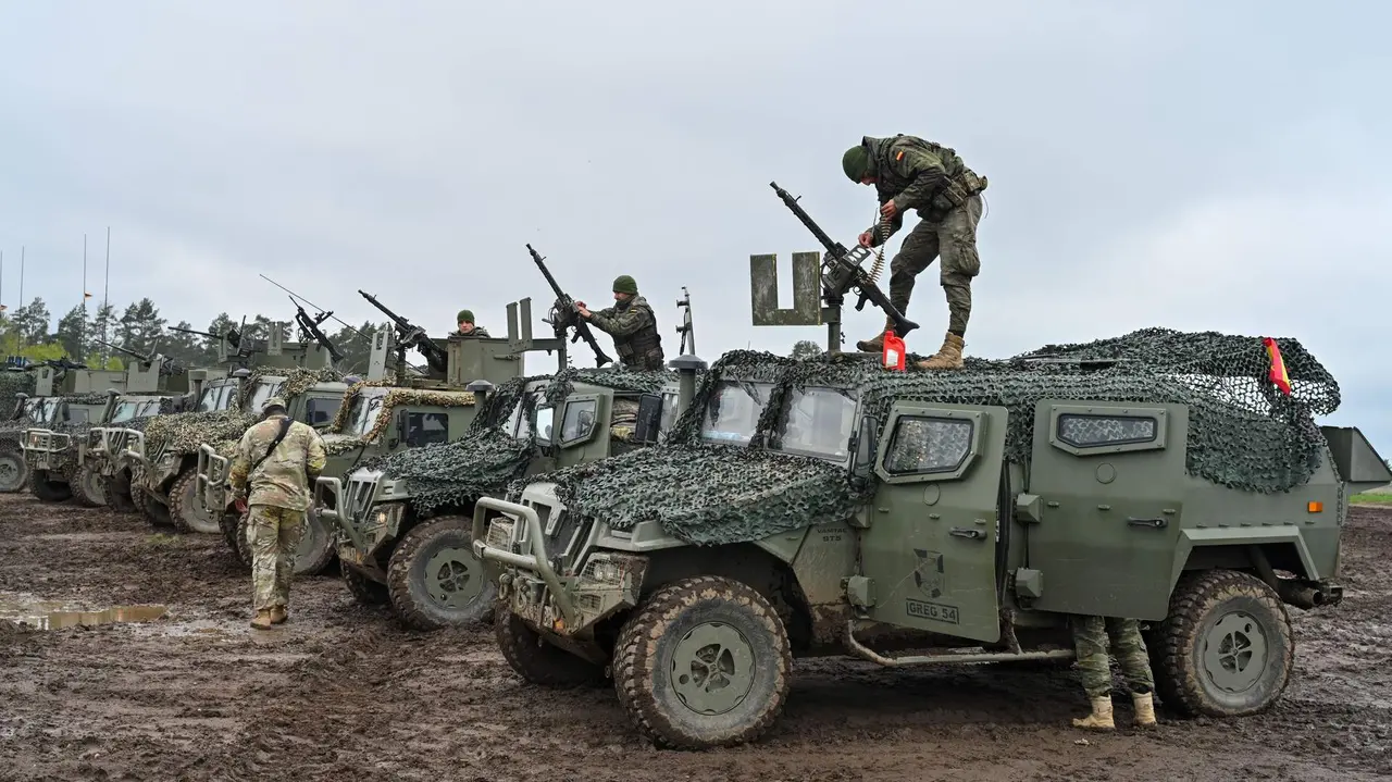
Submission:
[[[476,504],[519,675],[608,673],[654,743],[727,746],[775,722],[793,655],[1069,660],[1080,614],[1147,623],[1179,714],[1281,697],[1286,607],[1340,600],[1349,497],[1392,479],[1315,424],[1338,384],[1297,341],[1153,328],[902,372],[841,353],[837,309],[810,308],[821,358],[722,356],[665,444]]]

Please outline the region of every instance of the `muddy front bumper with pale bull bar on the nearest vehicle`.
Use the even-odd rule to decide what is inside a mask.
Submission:
[[[489,518],[489,511],[501,516]],[[632,609],[643,589],[647,557],[592,551],[579,573],[562,575],[546,550],[541,519],[535,508],[484,497],[473,508],[473,554],[498,583],[498,600],[532,629],[567,640],[582,654],[599,650],[589,643],[594,626]]]

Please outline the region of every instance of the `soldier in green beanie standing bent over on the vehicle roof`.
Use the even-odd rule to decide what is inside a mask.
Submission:
[[[846,150],[841,167],[852,182],[874,185],[880,220],[860,234],[860,246],[887,242],[915,209],[922,221],[903,239],[889,262],[889,302],[908,316],[915,278],[941,255],[938,282],[948,299],[948,331],[942,348],[919,369],[960,369],[966,321],[972,316],[972,278],[981,271],[976,252],[976,224],[981,220],[986,177],[967,168],[956,152],[917,136],[899,134],[878,139],[863,136]],[[891,328],[892,321],[885,323]],[[884,349],[884,331],[856,342],[866,352]]]

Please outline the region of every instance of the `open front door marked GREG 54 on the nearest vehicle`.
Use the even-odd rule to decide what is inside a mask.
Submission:
[[[995,641],[1005,408],[894,405],[860,536],[878,622]]]

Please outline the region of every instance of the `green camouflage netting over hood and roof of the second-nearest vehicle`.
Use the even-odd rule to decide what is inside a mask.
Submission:
[[[523,392],[528,384],[547,381],[541,398],[555,404],[571,392],[575,383],[647,394],[657,392],[675,380],[674,372],[575,367],[567,367],[555,376],[516,377],[489,395],[459,440],[400,451],[363,468],[380,469],[387,477],[405,480],[411,501],[418,509],[462,506],[480,495],[501,493],[537,455],[535,440],[518,440],[503,429],[503,422],[508,420],[518,404],[522,405],[522,416],[530,420],[537,399],[533,394]]]

